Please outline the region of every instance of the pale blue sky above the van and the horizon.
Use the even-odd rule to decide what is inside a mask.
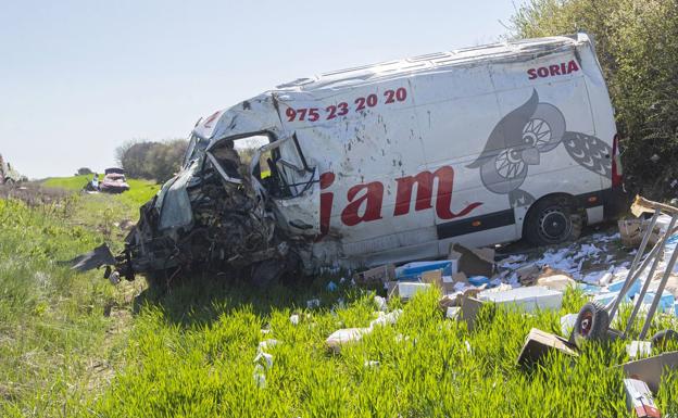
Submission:
[[[520,0],[515,0],[519,4]],[[299,77],[499,40],[512,0],[2,1],[0,153],[102,170]]]

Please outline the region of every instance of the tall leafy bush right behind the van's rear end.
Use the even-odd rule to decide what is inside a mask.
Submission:
[[[511,22],[517,38],[593,35],[616,110],[627,185],[653,198],[676,195],[678,2],[531,0]]]

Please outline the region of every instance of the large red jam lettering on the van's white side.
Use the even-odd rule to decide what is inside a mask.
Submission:
[[[437,181],[436,199],[434,201],[434,186]],[[331,172],[321,175],[321,190],[327,190],[335,182],[335,174]],[[465,216],[470,211],[480,206],[481,202],[466,205],[459,212],[452,211],[452,195],[454,189],[454,169],[442,166],[431,172],[422,172],[415,176],[400,177],[395,179],[395,205],[392,216],[403,216],[410,213],[412,198],[416,185],[416,200],[414,211],[436,208],[436,215],[441,219],[453,219]],[[329,231],[329,223],[332,216],[335,193],[323,191],[321,193],[321,236]],[[371,181],[355,185],[347,191],[347,204],[341,211],[341,223],[352,227],[361,223],[381,219],[384,203],[384,183]]]

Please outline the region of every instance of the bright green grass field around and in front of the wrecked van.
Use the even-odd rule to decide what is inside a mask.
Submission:
[[[373,292],[350,280],[326,290],[341,275],[264,290],[208,277],[160,292],[142,278],[112,287],[101,271],[58,263],[102,241],[120,248],[115,224],[135,220],[156,186],[141,190],[37,206],[0,200],[1,417],[629,415],[612,367],[627,360],[624,342],[590,345],[576,360],[515,365],[531,327],[560,333],[560,316],[578,311],[583,297],[575,291],[561,312],[486,308],[473,332],[443,318],[435,291],[395,300],[389,309],[404,309],[395,325],[332,355],[327,335],[376,317]],[[319,307],[306,307],[312,297]],[[253,359],[266,339],[280,344],[266,350],[273,366],[260,387]],[[664,414],[678,414],[677,375],[664,379],[657,401]]]

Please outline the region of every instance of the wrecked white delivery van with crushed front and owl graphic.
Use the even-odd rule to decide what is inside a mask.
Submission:
[[[247,161],[252,140],[264,144]],[[611,216],[618,154],[586,34],[301,78],[198,122],[115,271],[263,282],[452,242],[560,243]]]

